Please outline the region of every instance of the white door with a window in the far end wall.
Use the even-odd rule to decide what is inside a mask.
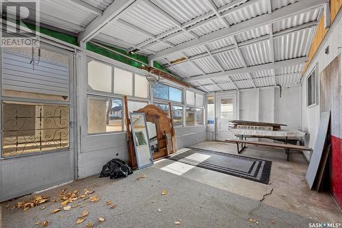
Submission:
[[[233,138],[229,127],[231,127],[231,121],[237,119],[237,94],[220,94],[216,103],[218,105],[216,109],[216,140],[224,141]]]

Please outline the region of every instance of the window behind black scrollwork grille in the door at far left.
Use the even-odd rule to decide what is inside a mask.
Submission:
[[[67,105],[3,101],[2,157],[69,147]]]

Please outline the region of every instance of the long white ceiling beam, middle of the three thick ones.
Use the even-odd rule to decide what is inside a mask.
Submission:
[[[254,27],[260,27],[263,25],[268,25],[270,23],[274,23],[276,21],[280,21],[283,18],[287,18],[289,16],[300,14],[307,10],[312,10],[315,8],[319,8],[329,0],[302,0],[287,5],[278,10],[274,10],[272,14],[263,14],[261,16],[257,16],[247,21],[243,21],[241,23],[237,23],[236,25],[232,25],[229,28],[220,29],[218,31],[214,31],[211,34],[207,34],[205,36],[201,36],[198,40],[190,40],[188,42],[184,42],[181,45],[177,45],[174,48],[166,49],[164,51],[160,51],[155,55],[150,55],[148,58],[150,60],[155,60],[159,58],[163,58],[167,55],[171,55],[172,53],[179,53],[181,51],[185,51],[187,49],[198,47],[201,45],[205,45],[208,42],[212,42],[214,40],[218,40],[220,38],[224,38],[227,36],[235,36],[236,34],[240,34],[249,29],[253,29]]]

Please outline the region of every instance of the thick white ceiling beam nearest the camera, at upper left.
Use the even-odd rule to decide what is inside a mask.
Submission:
[[[84,31],[79,34],[78,42],[88,42],[94,36],[101,32],[103,27],[107,25],[110,21],[118,18],[118,15],[129,8],[131,5],[134,5],[137,1],[140,0],[115,0],[111,3],[101,16],[98,16],[92,21]]]

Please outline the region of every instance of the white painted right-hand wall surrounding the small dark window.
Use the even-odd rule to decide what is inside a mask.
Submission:
[[[326,53],[324,53],[324,50],[328,46],[330,53],[326,55]],[[330,62],[332,62],[332,60],[334,60],[334,58],[337,57],[337,55],[341,54],[341,47],[342,21],[340,11],[337,17],[335,18],[334,23],[330,27],[324,42],[322,42],[320,49],[317,50],[317,53],[315,54],[313,60],[308,66],[308,70],[304,74],[304,77],[302,77],[302,130],[308,133],[308,136],[306,136],[304,140],[306,147],[313,148],[315,145],[320,118],[319,96],[317,105],[314,105],[312,107],[306,107],[307,77],[311,73],[316,64],[318,66],[318,75],[320,75],[321,71],[323,71],[324,68],[326,68],[326,66],[328,66]],[[319,79],[317,80],[317,86],[319,88]],[[310,151],[304,152],[304,155],[307,160],[310,160]]]

